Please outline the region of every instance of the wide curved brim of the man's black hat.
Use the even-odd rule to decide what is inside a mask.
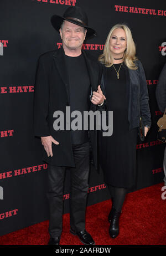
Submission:
[[[65,17],[61,17],[61,16],[58,16],[58,15],[53,15],[51,17],[51,24],[53,25],[53,27],[56,29],[56,31],[59,32],[59,29],[61,27],[61,24],[63,23],[63,21],[68,21],[68,22],[71,22],[73,24],[76,24],[76,25],[79,25],[80,27],[84,27],[85,29],[87,29],[87,32],[86,32],[86,38],[90,38],[92,37],[93,35],[97,35],[96,31],[90,27],[87,27],[85,26],[84,24],[82,24],[81,22],[79,21],[74,21],[72,19],[66,19]]]

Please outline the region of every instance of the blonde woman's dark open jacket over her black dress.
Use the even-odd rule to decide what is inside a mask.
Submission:
[[[142,116],[144,125],[151,126],[151,112],[149,109],[149,95],[147,89],[147,81],[144,73],[143,66],[139,60],[137,60],[137,70],[128,69],[125,65],[127,93],[128,93],[128,121],[129,129],[133,129],[139,126],[139,117]],[[105,79],[102,75],[101,88],[103,94],[106,96]],[[106,100],[106,104],[108,99]]]

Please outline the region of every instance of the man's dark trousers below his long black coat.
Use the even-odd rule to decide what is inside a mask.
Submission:
[[[58,237],[62,231],[63,191],[66,169],[70,170],[70,227],[79,232],[85,229],[85,210],[89,188],[89,142],[72,145],[75,168],[48,166],[49,234]]]

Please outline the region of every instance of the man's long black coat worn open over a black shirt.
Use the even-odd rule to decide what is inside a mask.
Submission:
[[[84,54],[89,71],[92,91],[100,85],[102,66],[91,55]],[[60,48],[40,55],[34,88],[34,135],[53,136],[59,145],[52,144],[53,157],[48,157],[43,148],[43,160],[56,166],[75,167],[72,154],[70,131],[55,131],[53,128],[54,111],[66,112],[70,106],[69,82],[64,60],[64,50]],[[90,110],[96,111],[91,103]],[[97,132],[90,131],[90,141],[97,168]]]

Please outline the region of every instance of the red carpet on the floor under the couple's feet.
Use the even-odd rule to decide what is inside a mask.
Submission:
[[[166,199],[161,198],[164,183],[129,193],[120,219],[120,235],[111,239],[108,234],[108,213],[111,201],[87,207],[86,229],[96,245],[165,245],[166,244]],[[165,195],[166,197],[166,195]],[[69,213],[64,214],[63,234],[60,244],[82,245],[69,232]],[[1,245],[47,244],[48,221],[20,229],[0,237]]]

